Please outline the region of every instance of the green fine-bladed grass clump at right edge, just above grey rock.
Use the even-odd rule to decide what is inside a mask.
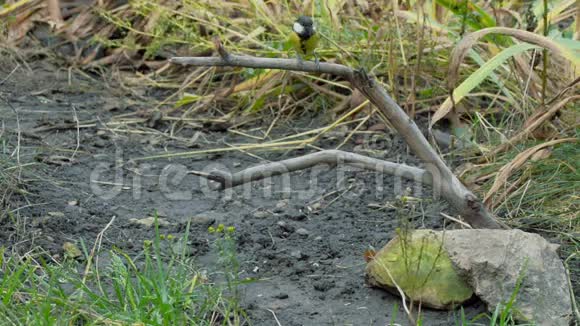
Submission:
[[[520,151],[537,145],[528,141],[503,153],[495,162],[468,173],[467,179],[485,179],[478,191],[492,186],[495,171],[512,161]],[[532,158],[514,171],[505,187],[495,196],[495,211],[523,229],[574,233],[580,227],[578,211],[578,145],[562,143],[544,152],[546,157]]]

